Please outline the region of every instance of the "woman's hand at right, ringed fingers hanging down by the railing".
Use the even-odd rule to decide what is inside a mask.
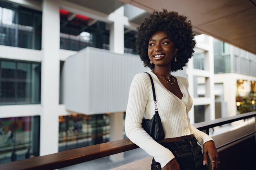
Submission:
[[[203,164],[207,163],[207,156],[211,161],[211,170],[218,170],[219,168],[219,156],[213,141],[207,141],[203,146],[204,161]]]

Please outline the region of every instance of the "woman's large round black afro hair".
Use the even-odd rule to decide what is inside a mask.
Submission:
[[[191,21],[177,12],[168,12],[163,9],[161,12],[154,11],[141,23],[137,28],[136,48],[144,66],[150,69],[153,69],[155,64],[150,64],[148,58],[148,41],[157,31],[164,31],[178,49],[177,62],[172,61],[171,71],[183,70],[189,58],[192,57],[195,47]]]

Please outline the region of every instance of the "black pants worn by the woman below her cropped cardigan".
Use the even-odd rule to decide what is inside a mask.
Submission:
[[[195,137],[161,145],[171,150],[180,165],[180,170],[208,170],[207,165],[203,165],[203,154]],[[155,159],[152,160],[151,170],[162,170],[160,163]]]

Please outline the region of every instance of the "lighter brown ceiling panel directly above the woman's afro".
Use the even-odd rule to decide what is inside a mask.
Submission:
[[[177,11],[196,25],[255,7],[249,0],[134,0],[131,4],[144,7],[146,11],[150,9],[148,12],[152,9],[161,11],[163,7],[168,11]]]

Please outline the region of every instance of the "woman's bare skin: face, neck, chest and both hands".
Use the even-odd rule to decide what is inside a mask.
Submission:
[[[178,49],[175,44],[168,38],[168,35],[164,31],[157,31],[154,33],[148,42],[148,57],[150,61],[155,64],[155,68],[152,70],[157,77],[166,77],[173,82],[170,76],[171,62],[174,62],[174,55],[177,53]],[[178,58],[177,58],[178,60]],[[162,78],[158,78],[159,81],[164,85],[164,87],[173,93],[178,98],[182,99],[183,94],[180,91],[180,87],[175,79],[174,84],[167,83]],[[203,146],[204,160],[203,164],[207,163],[207,156],[209,156],[211,162],[211,170],[218,170],[218,152],[213,141],[207,141]],[[180,165],[176,159],[169,161],[162,170],[180,170]]]

